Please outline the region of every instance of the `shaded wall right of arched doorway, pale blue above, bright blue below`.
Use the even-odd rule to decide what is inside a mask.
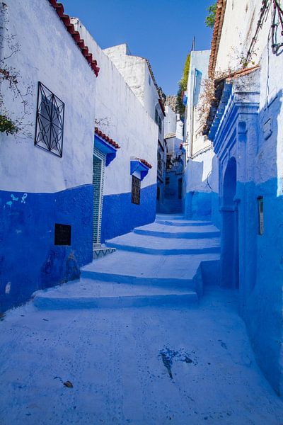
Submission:
[[[237,183],[240,193],[240,298],[250,340],[265,376],[282,395],[282,285],[283,285],[283,191],[277,157],[282,91],[259,113],[256,158],[246,155],[246,170],[255,170],[255,181]],[[248,129],[249,130],[249,129]],[[250,140],[249,140],[250,142]],[[282,147],[281,147],[282,148]],[[259,200],[263,203],[260,234]]]

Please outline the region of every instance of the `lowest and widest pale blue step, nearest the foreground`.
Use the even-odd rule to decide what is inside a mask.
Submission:
[[[146,285],[127,285],[81,279],[35,293],[34,305],[40,310],[148,307],[194,305],[197,293],[168,290]]]

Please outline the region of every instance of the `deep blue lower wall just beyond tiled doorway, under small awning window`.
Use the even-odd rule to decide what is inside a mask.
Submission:
[[[132,193],[103,196],[101,242],[131,232],[134,227],[154,222],[156,184],[141,189],[141,203],[132,203]]]

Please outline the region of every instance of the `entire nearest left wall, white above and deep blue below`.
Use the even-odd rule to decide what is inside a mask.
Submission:
[[[96,76],[50,2],[6,4],[6,29],[19,44],[8,64],[19,70],[21,91],[28,84],[33,89],[26,117],[31,135],[0,135],[1,310],[78,277],[92,260],[96,104]],[[65,104],[62,158],[34,145],[38,81]],[[8,111],[21,116],[21,100],[5,82],[1,92]],[[54,245],[55,223],[71,225],[71,246]]]

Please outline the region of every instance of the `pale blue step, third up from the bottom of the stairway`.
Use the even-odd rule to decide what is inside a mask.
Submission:
[[[127,233],[105,242],[124,251],[154,255],[212,254],[220,252],[219,237],[206,239],[172,239],[147,234]]]

